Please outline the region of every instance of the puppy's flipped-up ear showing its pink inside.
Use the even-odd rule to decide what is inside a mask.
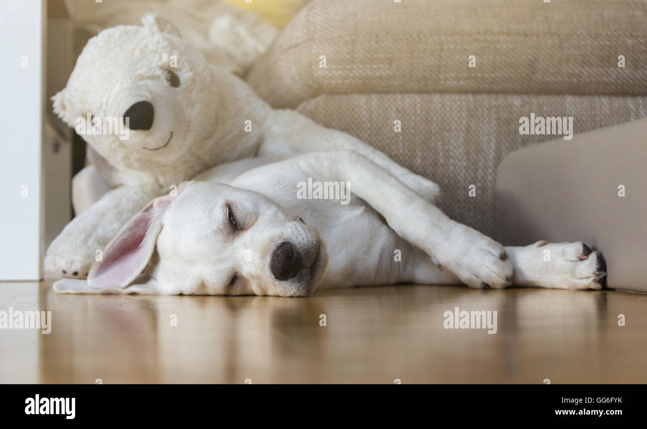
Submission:
[[[127,287],[142,274],[155,251],[162,229],[161,216],[172,199],[171,195],[154,199],[119,230],[105,248],[102,260],[90,270],[89,287]]]

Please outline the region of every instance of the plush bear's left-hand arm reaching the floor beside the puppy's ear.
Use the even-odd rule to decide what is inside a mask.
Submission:
[[[45,255],[47,276],[85,278],[110,239],[161,192],[157,186],[122,186],[105,193],[52,241]]]

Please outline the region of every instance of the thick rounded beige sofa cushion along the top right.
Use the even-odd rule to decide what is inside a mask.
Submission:
[[[274,107],[320,94],[647,94],[645,23],[639,0],[313,0],[248,82]]]

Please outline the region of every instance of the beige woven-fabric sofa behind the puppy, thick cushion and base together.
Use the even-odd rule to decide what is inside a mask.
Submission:
[[[521,116],[573,116],[575,133],[647,116],[646,23],[637,0],[313,0],[247,80],[438,182],[446,213],[496,236],[499,162],[554,138],[520,135]]]

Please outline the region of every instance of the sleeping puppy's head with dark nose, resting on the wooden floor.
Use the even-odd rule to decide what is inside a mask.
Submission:
[[[93,289],[142,276],[160,293],[307,296],[327,264],[313,226],[260,193],[184,182],[148,203],[90,271]],[[150,264],[150,265],[149,265]]]

